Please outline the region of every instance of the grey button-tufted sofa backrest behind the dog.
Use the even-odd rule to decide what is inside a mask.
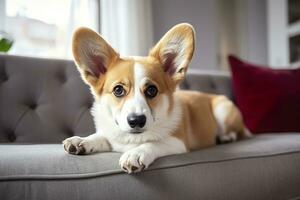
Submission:
[[[190,70],[181,87],[232,97],[226,73]],[[92,103],[73,61],[0,54],[0,143],[60,143],[94,133]]]

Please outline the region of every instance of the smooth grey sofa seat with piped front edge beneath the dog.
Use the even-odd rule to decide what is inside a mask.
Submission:
[[[93,199],[99,195],[102,199],[300,196],[299,133],[257,135],[167,156],[135,175],[120,170],[119,157],[119,153],[111,152],[69,155],[61,144],[0,145],[0,194],[4,199],[18,199],[25,194],[31,199]],[[66,189],[68,185],[72,189]]]

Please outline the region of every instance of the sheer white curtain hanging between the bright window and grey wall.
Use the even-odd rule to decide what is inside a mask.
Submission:
[[[145,56],[153,45],[150,0],[100,0],[101,34],[122,56]]]

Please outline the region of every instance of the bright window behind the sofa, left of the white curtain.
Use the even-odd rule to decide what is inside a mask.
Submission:
[[[76,28],[99,31],[99,0],[6,0],[2,7],[0,29],[14,39],[10,54],[71,58]]]

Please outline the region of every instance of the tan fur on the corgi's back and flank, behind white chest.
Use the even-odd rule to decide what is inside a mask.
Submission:
[[[183,116],[182,123],[174,135],[183,140],[189,150],[208,147],[216,143],[216,132],[219,127],[213,110],[219,104],[229,104],[224,134],[235,132],[240,137],[245,136],[241,114],[226,97],[194,91],[177,91],[176,97],[182,102]]]

